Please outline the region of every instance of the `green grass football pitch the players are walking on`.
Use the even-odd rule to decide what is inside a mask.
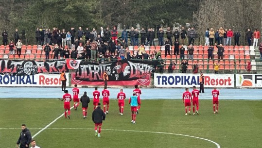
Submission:
[[[110,101],[101,138],[94,136],[90,103],[87,119],[82,118],[81,109],[72,110],[71,119],[58,119],[35,137],[36,143],[41,148],[216,148],[201,139],[151,133],[169,132],[206,138],[221,148],[261,147],[261,100],[220,100],[216,115],[211,100],[200,100],[200,115],[188,116],[184,115],[181,100],[142,100],[136,125],[131,124],[130,107],[125,103],[124,115],[120,116],[117,101]],[[40,130],[34,128],[44,128],[62,113],[63,102],[58,99],[0,99],[0,128],[20,128],[24,123],[34,135]],[[14,148],[19,132],[20,129],[1,129],[0,148]]]

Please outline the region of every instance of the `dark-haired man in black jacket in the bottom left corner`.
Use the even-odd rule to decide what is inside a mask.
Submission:
[[[20,136],[17,140],[17,148],[29,148],[29,144],[32,140],[30,131],[26,128],[25,124],[21,126],[22,132],[20,132]]]

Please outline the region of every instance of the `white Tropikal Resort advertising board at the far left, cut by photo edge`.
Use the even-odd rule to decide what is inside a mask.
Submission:
[[[69,78],[69,74],[66,73]],[[67,82],[69,85],[69,82]],[[0,75],[0,86],[43,86],[43,87],[59,87],[61,86],[60,74],[35,74],[24,76]]]

